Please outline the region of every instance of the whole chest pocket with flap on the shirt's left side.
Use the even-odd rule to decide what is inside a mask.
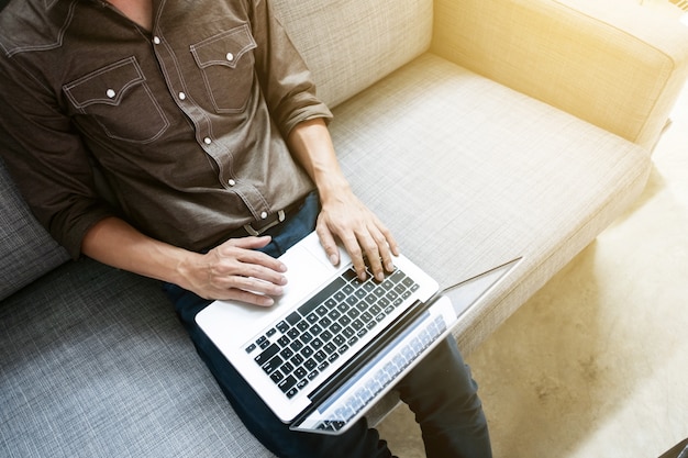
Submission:
[[[135,57],[92,71],[63,89],[74,107],[113,139],[149,143],[169,126]]]

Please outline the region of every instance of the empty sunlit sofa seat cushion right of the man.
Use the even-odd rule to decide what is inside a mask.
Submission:
[[[646,182],[650,153],[425,54],[334,110],[358,196],[442,287],[523,257],[456,327],[475,348]]]

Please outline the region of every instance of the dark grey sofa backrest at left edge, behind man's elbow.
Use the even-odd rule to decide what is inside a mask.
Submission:
[[[0,158],[0,300],[68,258],[21,199]]]

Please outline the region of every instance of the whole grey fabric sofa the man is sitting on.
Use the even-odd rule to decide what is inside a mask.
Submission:
[[[441,287],[522,257],[465,355],[635,201],[688,76],[688,29],[637,1],[273,2],[402,252]],[[1,165],[0,203],[0,456],[271,456],[159,282],[69,259]]]

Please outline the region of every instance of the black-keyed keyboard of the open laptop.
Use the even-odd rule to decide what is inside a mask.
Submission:
[[[318,294],[256,336],[245,350],[289,399],[303,390],[419,286],[400,269],[378,282],[345,270]]]

